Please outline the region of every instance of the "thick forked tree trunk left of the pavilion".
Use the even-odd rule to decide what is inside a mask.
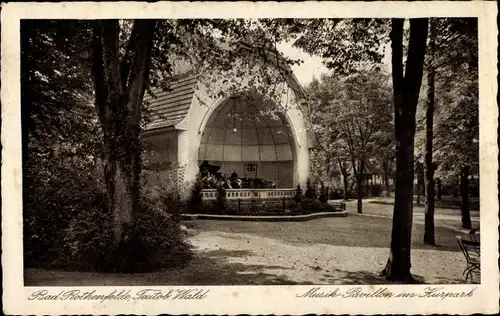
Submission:
[[[117,20],[96,22],[95,105],[104,134],[104,178],[115,244],[132,241],[140,199],[141,105],[149,77],[154,20],[137,20],[122,60]]]

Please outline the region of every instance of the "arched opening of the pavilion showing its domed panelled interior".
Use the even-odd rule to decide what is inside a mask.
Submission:
[[[296,149],[291,126],[270,101],[241,94],[223,101],[205,124],[198,165],[217,166],[221,175],[246,179],[244,187],[291,188]]]

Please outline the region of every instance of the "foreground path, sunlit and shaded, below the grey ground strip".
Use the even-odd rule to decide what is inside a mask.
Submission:
[[[225,222],[223,225],[231,225]],[[272,285],[382,284],[384,247],[290,243],[251,233],[187,229],[195,257],[179,270],[143,274],[27,269],[25,285]],[[425,283],[462,283],[460,252],[413,249],[412,273]]]

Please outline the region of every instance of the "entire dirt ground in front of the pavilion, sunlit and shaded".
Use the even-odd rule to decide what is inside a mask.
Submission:
[[[183,225],[196,254],[184,269],[134,275],[26,269],[25,285],[387,283],[379,276],[389,255],[387,208],[366,203],[365,214],[356,215],[355,205],[348,204],[348,217],[307,222],[189,221]],[[436,247],[423,244],[423,225],[416,218],[412,272],[425,283],[464,283],[466,262],[455,240],[459,216],[443,215],[436,220]]]

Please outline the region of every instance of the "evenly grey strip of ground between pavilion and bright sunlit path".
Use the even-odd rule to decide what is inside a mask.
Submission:
[[[390,218],[349,215],[343,218],[323,218],[306,222],[227,222],[217,220],[185,221],[193,231],[249,234],[272,238],[288,244],[328,244],[347,247],[386,248],[391,243]],[[311,234],[314,232],[314,234]],[[424,226],[415,223],[412,230],[412,249],[459,252],[457,233],[445,227],[436,227],[437,246],[423,243]]]

